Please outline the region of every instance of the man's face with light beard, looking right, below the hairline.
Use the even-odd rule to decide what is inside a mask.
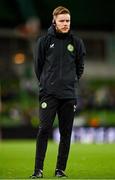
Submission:
[[[67,33],[70,30],[70,15],[59,14],[55,17],[56,31],[60,33]]]

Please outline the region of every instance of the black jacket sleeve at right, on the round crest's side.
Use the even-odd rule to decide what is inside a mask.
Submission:
[[[78,80],[81,78],[84,72],[84,56],[86,55],[86,50],[84,43],[81,39],[77,42],[77,59],[76,59],[76,74]]]

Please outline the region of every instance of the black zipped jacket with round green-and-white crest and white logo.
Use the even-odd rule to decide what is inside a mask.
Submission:
[[[84,70],[85,48],[71,33],[56,33],[53,26],[40,37],[35,50],[35,73],[40,93],[75,98],[76,81]]]

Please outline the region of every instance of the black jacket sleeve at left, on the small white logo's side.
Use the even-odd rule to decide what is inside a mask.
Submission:
[[[45,62],[45,42],[44,37],[40,37],[35,45],[34,51],[34,68],[37,79],[40,81],[40,76],[43,70],[44,62]]]

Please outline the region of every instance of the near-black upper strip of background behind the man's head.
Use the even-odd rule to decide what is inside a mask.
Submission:
[[[0,27],[13,28],[37,16],[43,29],[47,28],[59,5],[70,9],[74,29],[115,30],[114,0],[0,0]]]

